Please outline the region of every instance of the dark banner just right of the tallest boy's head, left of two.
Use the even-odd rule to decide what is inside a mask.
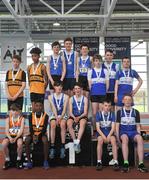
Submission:
[[[99,37],[74,37],[74,50],[80,53],[80,45],[86,43],[89,46],[89,56],[99,54]]]

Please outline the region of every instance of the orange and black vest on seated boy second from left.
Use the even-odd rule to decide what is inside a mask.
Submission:
[[[41,134],[45,122],[45,117],[46,113],[44,113],[40,118],[37,118],[35,113],[32,113],[32,126],[34,135],[38,136]]]

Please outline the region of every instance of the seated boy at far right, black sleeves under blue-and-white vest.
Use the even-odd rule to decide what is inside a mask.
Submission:
[[[137,143],[137,153],[139,159],[138,170],[140,172],[148,172],[148,169],[143,163],[144,145],[140,134],[140,113],[136,109],[132,108],[132,101],[133,98],[130,94],[124,95],[124,106],[122,109],[117,111],[116,135],[118,142],[122,143],[122,153],[124,158],[122,171],[129,171],[128,142],[129,140],[132,140]]]

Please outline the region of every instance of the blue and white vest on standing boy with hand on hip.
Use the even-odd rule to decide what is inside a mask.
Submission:
[[[118,71],[119,73],[119,84],[118,84],[118,95],[124,95],[127,93],[131,93],[133,89],[133,70],[125,71],[123,70]],[[125,75],[126,74],[126,75]]]

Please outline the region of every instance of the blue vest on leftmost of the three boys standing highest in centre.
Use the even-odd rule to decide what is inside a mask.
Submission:
[[[62,75],[62,58],[58,56],[58,59],[54,59],[53,56],[50,56],[50,74],[51,75]]]

